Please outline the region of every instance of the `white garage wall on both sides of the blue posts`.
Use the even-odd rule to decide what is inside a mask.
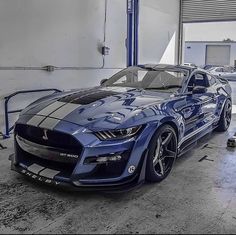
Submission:
[[[179,0],[141,0],[140,9],[140,63],[175,63]],[[104,16],[105,0],[1,0],[0,67],[101,67]],[[111,50],[106,69],[52,73],[0,69],[0,131],[4,96],[22,89],[94,86],[125,67],[126,19],[126,0],[108,0],[106,45]],[[24,107],[35,98],[21,96],[11,108]]]

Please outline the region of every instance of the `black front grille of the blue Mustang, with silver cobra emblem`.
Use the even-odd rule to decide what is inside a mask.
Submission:
[[[81,156],[83,146],[73,136],[58,131],[47,130],[48,140],[44,140],[42,138],[44,136],[44,129],[42,128],[23,124],[17,124],[15,127],[16,154],[20,164],[27,167],[32,164],[38,164],[42,167],[59,171],[60,176],[70,178],[80,159],[73,159],[66,155],[57,157],[53,154],[49,154],[49,156],[42,154],[41,156],[40,151],[38,151],[38,154],[32,154],[33,151],[32,153],[30,151],[26,152],[19,146],[17,136],[39,146],[49,147],[49,150],[58,150],[60,152],[63,149],[68,154]]]

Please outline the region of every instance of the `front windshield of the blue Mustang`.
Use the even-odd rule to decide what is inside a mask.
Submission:
[[[180,69],[127,68],[108,79],[103,86],[119,86],[175,92],[182,87],[188,72]]]

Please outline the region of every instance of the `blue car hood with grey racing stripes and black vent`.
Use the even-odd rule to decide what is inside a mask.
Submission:
[[[171,93],[123,87],[95,87],[61,93],[28,106],[21,115],[48,117],[91,130],[114,129],[144,117],[142,110],[171,99]]]

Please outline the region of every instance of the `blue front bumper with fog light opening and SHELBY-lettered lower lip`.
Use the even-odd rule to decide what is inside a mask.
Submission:
[[[137,138],[120,141],[99,141],[91,133],[79,132],[77,126],[76,135],[73,136],[82,144],[83,150],[76,164],[69,166],[71,170],[68,170],[63,163],[60,163],[59,167],[53,162],[45,162],[35,156],[29,156],[15,141],[15,154],[11,157],[11,168],[35,181],[72,190],[127,191],[145,181],[147,148],[156,126],[154,123],[149,124]],[[63,131],[65,132],[65,129]],[[118,175],[98,177],[94,174],[97,165],[85,164],[88,157],[118,152],[129,153],[127,162]],[[130,172],[130,166],[134,166],[136,170]],[[66,169],[60,170],[62,167]]]

